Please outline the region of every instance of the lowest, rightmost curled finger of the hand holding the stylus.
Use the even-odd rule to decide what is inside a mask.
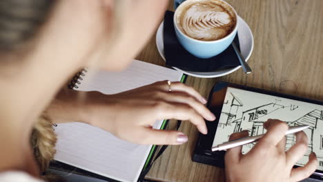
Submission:
[[[308,178],[315,172],[317,168],[317,158],[314,152],[309,156],[309,162],[304,165],[304,167],[293,168],[291,170],[291,180],[290,181],[301,181]]]

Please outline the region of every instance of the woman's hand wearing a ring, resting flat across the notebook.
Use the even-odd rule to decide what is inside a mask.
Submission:
[[[167,81],[159,81],[119,94],[96,92],[97,99],[89,99],[90,123],[121,139],[141,144],[178,145],[187,141],[182,132],[152,128],[155,121],[163,119],[189,120],[206,134],[204,119],[215,120],[214,114],[204,106],[206,100],[183,83],[173,82],[170,87],[168,92]]]

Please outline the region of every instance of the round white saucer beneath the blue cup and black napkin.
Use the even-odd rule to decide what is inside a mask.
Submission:
[[[157,30],[156,45],[160,56],[165,61],[163,30],[164,30],[164,21],[160,23],[160,26]],[[248,61],[249,57],[251,56],[251,52],[253,52],[253,33],[251,32],[248,24],[241,17],[238,17],[237,33],[239,34],[239,43],[240,43],[240,50],[241,50],[242,56],[244,57],[244,59],[246,59],[246,61]],[[235,68],[217,70],[215,72],[190,72],[190,71],[181,70],[175,67],[173,68],[175,70],[179,70],[193,77],[214,78],[214,77],[222,77],[226,74],[230,74],[231,72],[234,72],[240,67],[241,65]]]

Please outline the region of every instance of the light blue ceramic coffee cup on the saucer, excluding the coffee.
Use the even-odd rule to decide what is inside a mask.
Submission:
[[[174,14],[173,23],[175,27],[176,37],[179,43],[181,43],[182,46],[188,52],[190,52],[190,54],[195,55],[195,57],[204,58],[204,59],[214,57],[217,54],[220,54],[221,52],[226,50],[226,48],[228,48],[228,46],[231,45],[233,39],[235,38],[235,35],[237,34],[237,21],[235,24],[235,28],[233,28],[233,31],[230,34],[228,34],[226,37],[223,37],[222,39],[217,39],[215,41],[202,41],[202,40],[197,40],[197,39],[188,37],[186,34],[184,34],[184,32],[182,32],[182,30],[178,28],[176,17],[177,17],[177,12],[179,12],[183,7],[185,7],[186,3],[191,3],[192,1],[200,1],[200,0],[190,0],[189,2],[185,0],[174,1],[174,7],[176,8],[176,10]],[[217,0],[217,1],[221,1],[221,0]],[[237,12],[235,12],[235,9],[233,9],[232,6],[226,3],[225,1],[222,1],[222,2],[228,5],[228,7],[230,7],[233,10],[233,12],[235,13],[235,17],[237,19]]]

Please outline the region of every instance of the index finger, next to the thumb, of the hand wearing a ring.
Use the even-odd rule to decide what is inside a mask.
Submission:
[[[203,117],[186,104],[160,102],[155,106],[155,112],[152,114],[154,114],[157,119],[188,120],[196,125],[199,132],[202,132],[203,134],[208,133]]]

